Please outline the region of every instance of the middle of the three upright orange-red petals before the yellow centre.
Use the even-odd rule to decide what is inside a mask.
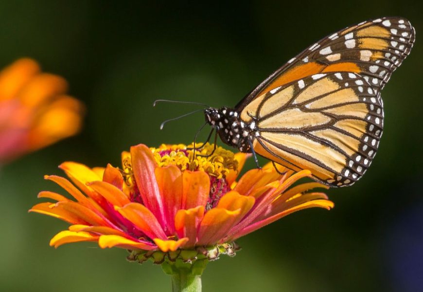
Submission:
[[[175,215],[182,205],[182,173],[176,165],[156,167],[156,180],[164,202],[164,213],[170,234],[175,233]]]

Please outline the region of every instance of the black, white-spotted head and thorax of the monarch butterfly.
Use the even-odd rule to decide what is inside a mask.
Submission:
[[[224,143],[238,148],[241,152],[250,152],[248,140],[252,141],[255,134],[254,121],[247,124],[240,120],[239,112],[225,107],[207,109],[204,115],[206,122],[216,129]]]

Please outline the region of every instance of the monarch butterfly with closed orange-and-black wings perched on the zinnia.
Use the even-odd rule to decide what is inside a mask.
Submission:
[[[256,163],[259,154],[294,171],[309,169],[318,182],[351,185],[376,154],[380,91],[414,39],[405,18],[345,28],[290,59],[234,108],[205,109],[206,124],[215,139],[252,152]]]

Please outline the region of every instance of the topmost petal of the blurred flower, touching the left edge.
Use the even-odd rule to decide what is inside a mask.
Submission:
[[[38,64],[29,58],[15,61],[0,72],[0,100],[15,98],[18,91],[40,71]]]

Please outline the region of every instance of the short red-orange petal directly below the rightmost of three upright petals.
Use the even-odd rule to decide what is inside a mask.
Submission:
[[[187,237],[189,240],[185,247],[194,247],[197,240],[197,230],[201,219],[204,217],[204,206],[188,210],[179,210],[175,216],[176,234],[179,238]]]

